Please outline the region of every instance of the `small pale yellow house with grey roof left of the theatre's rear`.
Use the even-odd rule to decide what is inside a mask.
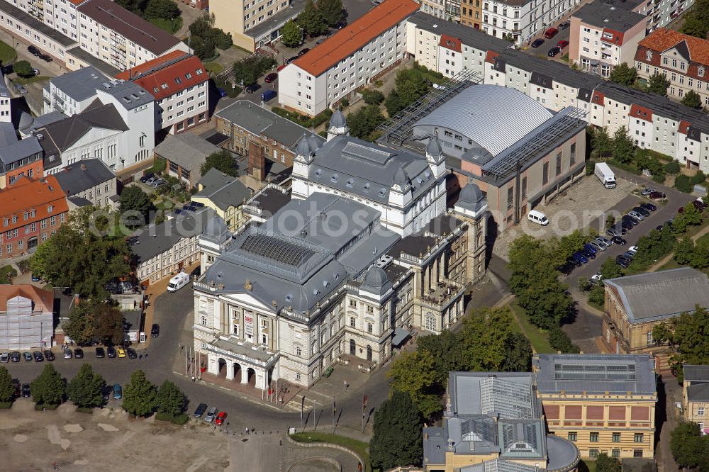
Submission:
[[[251,191],[236,177],[212,168],[197,182],[197,189],[191,201],[212,208],[231,232],[248,221],[241,207],[251,198]]]

